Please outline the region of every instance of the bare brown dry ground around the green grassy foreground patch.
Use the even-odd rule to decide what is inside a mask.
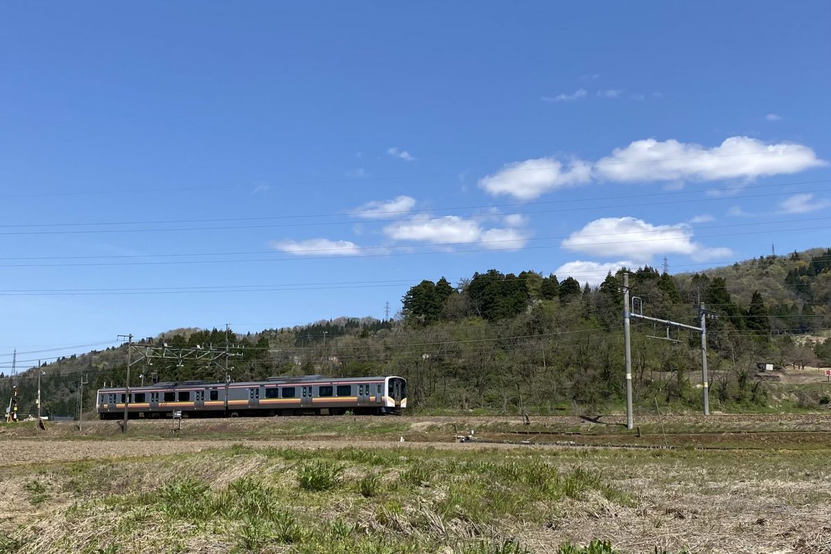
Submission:
[[[609,441],[628,442],[633,437],[625,429],[618,431],[622,429],[620,417],[589,421],[579,417],[534,418],[532,423],[555,431],[583,429],[586,431],[583,439],[601,447]],[[644,426],[663,423],[674,431],[673,438],[686,446],[701,441],[710,446],[733,444],[735,436],[741,435],[750,436],[749,440],[755,441],[758,449],[652,451],[452,442],[453,432],[462,432],[467,427],[524,429],[518,418],[192,420],[183,424],[194,435],[177,438],[165,436],[170,422],[137,421],[130,422],[130,432],[137,436],[125,439],[117,433],[115,422],[92,422],[82,436],[71,424],[52,425],[45,433],[36,431],[33,425],[32,429],[3,427],[0,467],[7,468],[7,472],[5,476],[0,473],[0,483],[5,490],[17,491],[20,496],[25,494],[22,487],[30,476],[49,473],[52,464],[100,459],[138,467],[136,464],[149,457],[198,453],[234,444],[243,444],[251,451],[273,447],[449,449],[454,452],[495,449],[500,456],[504,452],[506,458],[512,459],[522,459],[526,453],[542,453],[558,460],[563,467],[578,464],[601,470],[617,488],[630,493],[633,502],[623,506],[594,498],[588,503],[563,505],[562,516],[554,517],[546,526],[528,525],[516,530],[532,552],[553,553],[566,540],[585,543],[587,537],[604,537],[622,552],[651,553],[657,545],[667,552],[686,548],[691,553],[831,554],[831,478],[824,469],[826,461],[831,459],[831,414],[731,414],[713,415],[710,419],[698,415],[643,416],[638,418],[638,423]],[[402,424],[406,431],[398,430]],[[702,428],[703,433],[695,432]],[[781,430],[774,432],[772,428]],[[273,434],[250,435],[263,429]],[[682,432],[685,429],[689,430]],[[307,433],[308,438],[298,433]],[[347,436],[346,433],[358,434]],[[399,437],[403,435],[416,437],[421,442],[406,439],[401,443]],[[579,435],[567,436],[565,440],[571,441],[576,436]],[[790,442],[777,442],[781,436],[789,437]],[[797,436],[809,445],[809,450],[801,453],[790,449]],[[431,437],[441,440],[430,440]],[[504,434],[504,438],[515,443],[529,439],[509,434]],[[538,435],[536,439],[551,437]],[[559,435],[553,438],[562,439]],[[187,463],[193,462],[186,462],[184,467],[188,467]],[[250,467],[244,469],[256,473],[262,469],[259,463],[249,460]],[[2,512],[8,512],[9,502],[10,498],[0,501]],[[9,531],[12,525],[27,524],[38,517],[48,519],[48,509],[51,508],[42,507],[38,511],[19,513],[5,523],[0,521],[0,531]]]

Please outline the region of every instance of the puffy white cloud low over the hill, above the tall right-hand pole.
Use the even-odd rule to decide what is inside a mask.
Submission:
[[[656,254],[682,254],[696,261],[727,256],[728,248],[706,248],[692,241],[686,223],[652,225],[637,218],[600,218],[572,233],[562,246],[592,256],[627,257],[648,262]]]

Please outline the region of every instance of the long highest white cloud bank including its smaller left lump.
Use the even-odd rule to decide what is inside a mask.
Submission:
[[[669,183],[679,188],[685,181],[740,179],[747,182],[758,177],[792,174],[823,167],[808,146],[765,144],[746,136],[732,136],[720,145],[706,148],[678,140],[636,140],[611,155],[584,162],[563,162],[557,158],[526,159],[506,164],[494,174],[479,179],[479,186],[489,194],[510,194],[514,198],[534,199],[554,189],[595,182]],[[742,184],[730,191],[738,192]]]

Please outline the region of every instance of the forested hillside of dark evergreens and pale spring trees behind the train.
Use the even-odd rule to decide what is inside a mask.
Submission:
[[[770,403],[753,379],[756,364],[831,366],[831,248],[737,262],[671,276],[630,268],[632,294],[646,315],[696,323],[697,302],[719,318],[708,325],[712,398],[719,406]],[[179,329],[145,344],[224,346],[238,357],[231,378],[269,375],[403,375],[416,409],[541,412],[563,406],[617,404],[622,395],[622,293],[619,275],[599,287],[536,272],[475,273],[460,283],[425,280],[402,299],[401,319],[343,317],[308,326],[239,335]],[[699,337],[634,321],[636,395],[677,405],[699,401]],[[85,405],[105,383],[125,378],[124,346],[73,355],[43,365],[43,412],[76,413],[81,375],[89,375]],[[158,380],[223,380],[224,367],[185,362],[135,365],[131,385]],[[36,413],[37,370],[19,379],[21,413]],[[7,403],[11,380],[0,378]],[[815,402],[814,402],[815,400]],[[819,404],[819,397],[809,400]]]

